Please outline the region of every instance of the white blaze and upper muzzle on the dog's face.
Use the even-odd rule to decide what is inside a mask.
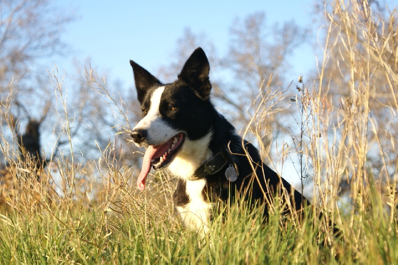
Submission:
[[[159,112],[160,99],[165,87],[156,88],[151,96],[151,106],[146,116],[137,123],[133,130],[147,130],[147,143],[150,145],[163,144],[179,131],[174,130],[166,124]]]

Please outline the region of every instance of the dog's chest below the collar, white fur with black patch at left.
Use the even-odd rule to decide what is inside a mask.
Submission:
[[[212,204],[202,195],[205,181],[205,179],[187,180],[185,185],[180,183],[174,195],[176,208],[185,226],[201,233],[206,233],[208,230],[212,208]],[[184,186],[185,194],[182,194]]]

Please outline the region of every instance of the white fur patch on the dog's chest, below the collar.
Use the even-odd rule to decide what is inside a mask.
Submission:
[[[177,207],[184,224],[201,234],[206,234],[208,231],[212,206],[203,199],[201,193],[205,184],[205,179],[187,180],[186,191],[191,200],[187,205]]]

